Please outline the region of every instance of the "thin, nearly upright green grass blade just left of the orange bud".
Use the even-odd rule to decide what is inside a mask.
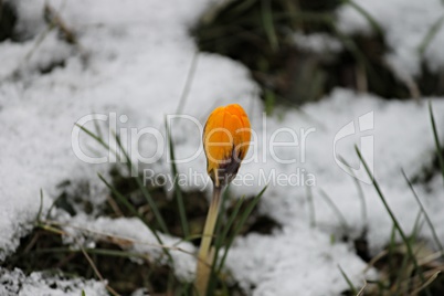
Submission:
[[[168,127],[168,123],[167,119],[165,119],[165,128],[166,128],[166,133],[168,136],[168,146],[169,146],[169,150],[170,150],[170,161],[171,161],[171,171],[172,171],[172,176],[173,178],[173,187],[175,187],[175,194],[176,194],[176,200],[178,202],[178,208],[179,208],[179,216],[180,216],[180,223],[182,224],[182,231],[183,231],[183,236],[188,237],[190,236],[190,228],[188,225],[188,219],[187,219],[187,211],[184,208],[184,203],[183,203],[183,195],[182,195],[182,190],[180,189],[179,186],[179,172],[178,172],[178,168],[176,166],[176,157],[175,157],[175,146],[172,144],[172,138],[171,138],[171,130]]]

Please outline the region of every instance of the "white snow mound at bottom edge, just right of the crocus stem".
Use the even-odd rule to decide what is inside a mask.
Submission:
[[[264,250],[279,251],[264,256]],[[283,296],[340,295],[347,284],[339,266],[359,285],[366,268],[350,247],[331,243],[328,235],[309,228],[286,228],[271,236],[249,235],[231,251],[228,264],[245,290],[256,287],[254,295]],[[367,278],[373,276],[370,273]]]

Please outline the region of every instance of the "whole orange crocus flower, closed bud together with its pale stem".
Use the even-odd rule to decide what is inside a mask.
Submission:
[[[249,151],[251,138],[250,120],[239,104],[215,108],[208,117],[202,135],[207,156],[207,170],[213,180],[213,199],[207,214],[194,287],[197,295],[204,296],[210,278],[214,252],[211,240],[221,203],[221,192],[237,173],[242,160]]]

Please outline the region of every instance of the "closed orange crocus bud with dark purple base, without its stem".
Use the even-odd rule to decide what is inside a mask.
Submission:
[[[231,182],[249,151],[249,116],[239,104],[215,108],[203,130],[207,171],[215,187]]]

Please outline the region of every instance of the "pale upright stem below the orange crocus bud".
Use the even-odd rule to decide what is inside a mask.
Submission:
[[[198,254],[198,268],[195,273],[195,290],[198,296],[204,296],[207,286],[210,278],[211,264],[213,258],[210,253],[210,245],[213,239],[214,226],[218,220],[219,207],[221,204],[222,188],[214,186],[213,199],[211,200],[210,208],[207,214],[205,226],[203,228],[202,240],[200,243]]]

